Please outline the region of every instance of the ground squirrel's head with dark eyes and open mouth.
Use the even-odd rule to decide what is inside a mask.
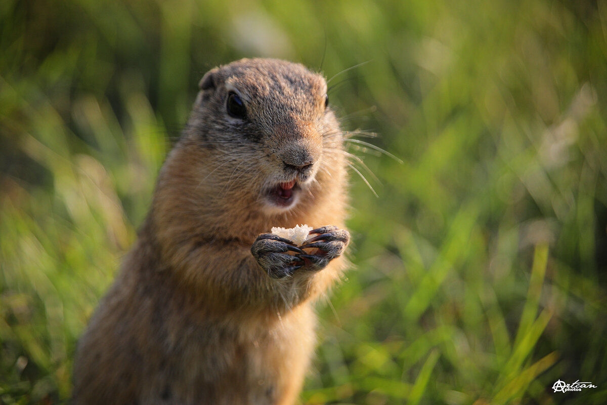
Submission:
[[[174,196],[204,195],[209,215],[223,208],[265,222],[302,216],[329,189],[342,192],[342,132],[324,77],[301,64],[243,59],[210,70],[199,87],[159,188],[174,188],[177,176],[188,185]]]

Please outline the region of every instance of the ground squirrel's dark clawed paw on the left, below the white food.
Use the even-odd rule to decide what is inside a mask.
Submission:
[[[251,247],[251,253],[257,263],[268,272],[268,275],[276,279],[290,276],[305,264],[304,259],[287,254],[287,251],[305,254],[305,251],[298,248],[291,240],[271,233],[257,236]]]

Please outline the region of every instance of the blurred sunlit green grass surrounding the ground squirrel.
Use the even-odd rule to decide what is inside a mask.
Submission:
[[[197,81],[331,77],[355,268],[305,404],[607,403],[607,4],[0,2],[0,403],[70,394],[75,342]],[[597,389],[553,393],[562,379]]]

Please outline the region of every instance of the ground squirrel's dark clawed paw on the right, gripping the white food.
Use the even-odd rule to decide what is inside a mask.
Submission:
[[[309,270],[321,270],[327,267],[332,259],[344,253],[345,247],[350,242],[350,233],[337,226],[327,225],[310,231],[310,235],[316,234],[305,240],[300,249],[313,249],[304,254],[296,254],[304,259],[304,267]],[[314,252],[314,254],[309,254]]]

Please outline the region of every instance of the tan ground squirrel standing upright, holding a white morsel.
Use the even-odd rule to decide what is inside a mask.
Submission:
[[[268,59],[206,73],[80,339],[73,402],[293,404],[311,302],[345,268],[346,165],[321,75]],[[300,223],[320,226],[300,247],[268,233]]]

